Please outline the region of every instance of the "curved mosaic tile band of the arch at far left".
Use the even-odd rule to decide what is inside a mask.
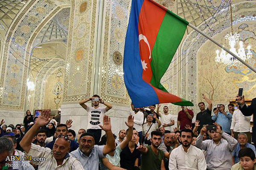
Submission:
[[[68,4],[69,1],[65,0],[62,3]],[[38,30],[40,26],[43,26],[41,23],[42,20],[45,20],[45,23],[48,21],[47,17],[49,17],[49,14],[52,14],[51,11],[55,7],[55,3],[52,3],[50,0],[31,0],[24,6],[12,27],[9,28],[6,37],[6,46],[4,48],[5,57],[3,59],[0,82],[0,87],[4,91],[3,97],[0,99],[1,108],[23,108],[28,70],[27,61],[29,59],[29,55],[26,55],[25,51],[27,46],[29,46],[28,40],[32,40],[34,37],[31,34]],[[40,26],[38,26],[39,23],[41,23]],[[17,55],[16,51],[19,51],[20,54]],[[9,85],[9,83],[13,82],[10,82],[11,79],[18,80],[15,88]]]

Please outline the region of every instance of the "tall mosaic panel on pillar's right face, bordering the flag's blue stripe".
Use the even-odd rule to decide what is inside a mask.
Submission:
[[[103,55],[99,78],[100,95],[108,102],[129,105],[129,96],[123,77],[123,53],[128,26],[130,0],[106,0]]]

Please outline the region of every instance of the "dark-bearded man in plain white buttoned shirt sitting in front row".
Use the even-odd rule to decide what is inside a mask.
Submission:
[[[171,152],[169,170],[206,170],[204,153],[191,144],[192,136],[190,129],[180,131],[181,145]]]

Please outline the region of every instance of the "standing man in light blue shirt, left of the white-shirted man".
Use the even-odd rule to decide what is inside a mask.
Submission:
[[[225,106],[220,105],[218,108],[219,112],[215,112],[215,114],[212,116],[212,120],[221,125],[222,130],[231,135],[230,126],[231,126],[231,119],[232,114],[229,112],[225,112]]]

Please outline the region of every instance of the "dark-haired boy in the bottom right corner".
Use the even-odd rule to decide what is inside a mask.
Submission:
[[[244,147],[238,153],[239,163],[234,164],[231,170],[256,170],[255,153],[249,147]]]

